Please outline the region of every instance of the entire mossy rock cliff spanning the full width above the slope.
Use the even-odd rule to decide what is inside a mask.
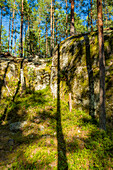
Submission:
[[[104,33],[106,57],[106,111],[113,113],[113,30]],[[89,109],[90,114],[99,110],[99,56],[96,32],[67,38],[60,44],[60,96],[73,106]],[[0,98],[11,98],[18,88],[21,58],[0,56]],[[51,59],[25,59],[23,73],[27,90],[41,90],[50,85],[57,98],[58,47]]]

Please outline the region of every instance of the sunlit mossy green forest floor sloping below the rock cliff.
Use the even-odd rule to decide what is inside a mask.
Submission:
[[[70,113],[68,103],[53,99],[50,89],[18,95],[6,106],[0,124],[1,170],[113,169],[112,127],[104,132],[98,118],[77,109]]]

